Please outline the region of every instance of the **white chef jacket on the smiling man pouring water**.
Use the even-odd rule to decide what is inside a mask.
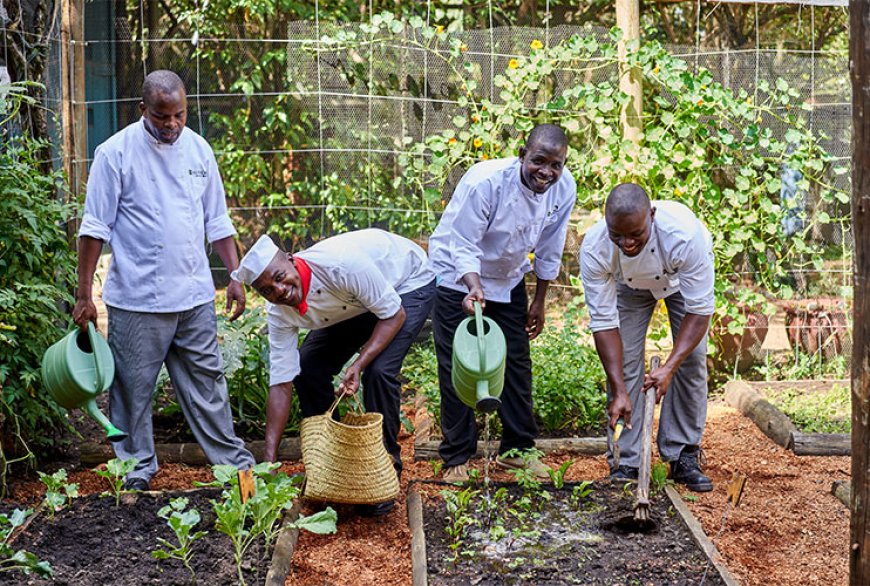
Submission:
[[[577,184],[568,169],[539,194],[523,185],[518,158],[477,163],[456,186],[429,238],[439,285],[467,292],[462,276],[478,273],[486,298],[507,303],[532,270],[531,252],[538,278],[555,279],[576,201]]]

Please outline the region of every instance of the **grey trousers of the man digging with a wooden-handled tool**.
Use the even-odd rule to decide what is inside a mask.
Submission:
[[[619,308],[619,335],[622,338],[623,376],[631,399],[633,428],[625,429],[619,438],[620,466],[640,466],[641,429],[643,427],[644,393],[641,392],[646,372],[644,347],[646,334],[656,299],[649,291],[617,286]],[[680,324],[686,315],[683,296],[677,292],[665,297],[671,336],[676,339]],[[664,359],[664,357],[662,357]],[[612,399],[610,387],[608,399]],[[671,386],[661,403],[659,430],[656,444],[665,462],[680,457],[686,446],[701,444],[707,419],[707,336],[698,344],[677,369]],[[612,445],[613,430],[608,428],[608,446]],[[613,453],[608,449],[607,462],[613,467]]]

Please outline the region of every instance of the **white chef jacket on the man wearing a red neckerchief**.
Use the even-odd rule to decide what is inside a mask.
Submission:
[[[327,238],[296,257],[311,269],[308,310],[300,315],[296,308],[266,303],[270,385],[299,374],[299,328],[326,328],[367,311],[389,319],[399,311],[401,295],[435,279],[422,248],[377,229]]]

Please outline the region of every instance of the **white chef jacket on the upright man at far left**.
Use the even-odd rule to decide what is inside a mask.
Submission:
[[[213,301],[205,240],[235,233],[214,153],[194,131],[164,144],[140,119],[97,147],[79,236],[112,247],[106,305],[170,313]]]

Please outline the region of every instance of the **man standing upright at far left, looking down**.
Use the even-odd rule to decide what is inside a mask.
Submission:
[[[151,397],[166,364],[178,403],[212,464],[249,468],[254,458],[236,437],[217,344],[215,288],[203,243],[227,270],[238,266],[223,184],[208,143],[186,128],[187,97],[171,71],[145,78],[142,118],[100,145],[88,178],[79,230],[73,321],[96,322],[94,271],[103,243],[112,264],[103,289],[115,381],[112,422],[129,437],[114,445],[139,463],[128,490],[148,490],[157,472]],[[245,309],[241,283],[227,287],[231,319]]]

